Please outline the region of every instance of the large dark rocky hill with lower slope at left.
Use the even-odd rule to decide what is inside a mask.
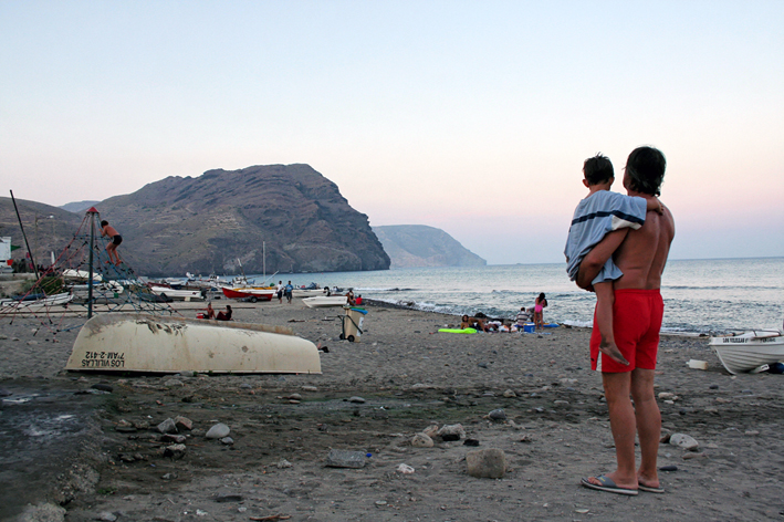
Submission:
[[[62,252],[84,218],[83,212],[18,202],[36,261],[44,254],[49,259],[51,250]],[[237,274],[238,258],[248,274],[262,273],[264,267],[268,274],[389,269],[367,216],[309,165],[168,177],[134,194],[84,203],[123,236],[119,254],[140,275]],[[0,198],[0,236],[23,244],[9,198]],[[14,252],[14,258],[23,255],[21,249]]]

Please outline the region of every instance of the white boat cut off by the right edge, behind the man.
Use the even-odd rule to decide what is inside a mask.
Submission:
[[[711,337],[709,345],[731,374],[751,372],[764,364],[784,361],[782,332],[757,330],[741,335]]]

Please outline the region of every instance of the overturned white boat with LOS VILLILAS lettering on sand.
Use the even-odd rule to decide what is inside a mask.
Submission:
[[[82,326],[65,369],[320,374],[321,359],[284,326],[108,313]]]

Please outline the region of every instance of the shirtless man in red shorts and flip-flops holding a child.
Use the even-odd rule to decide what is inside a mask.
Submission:
[[[639,147],[626,161],[624,187],[629,196],[646,199],[660,195],[667,161],[651,147]],[[662,206],[663,207],[663,206]],[[577,284],[590,289],[590,281],[613,255],[624,275],[615,281],[614,332],[618,348],[630,363],[624,366],[598,352],[600,338],[594,328],[590,361],[602,370],[618,469],[583,479],[583,486],[600,491],[637,494],[638,490],[663,493],[656,459],[661,436],[661,414],[654,394],[654,373],[665,305],[659,289],[675,237],[675,221],[663,207],[650,212],[639,230],[608,233],[583,260]],[[634,406],[629,399],[634,398]],[[641,462],[635,462],[635,435],[639,434]]]

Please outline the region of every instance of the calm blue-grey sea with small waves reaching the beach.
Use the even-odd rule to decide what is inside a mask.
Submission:
[[[262,275],[249,275],[257,282]],[[268,279],[269,275],[268,275]],[[278,274],[274,282],[353,289],[365,299],[415,310],[512,319],[544,292],[545,322],[589,326],[596,299],[566,275],[564,263],[440,267],[372,272]],[[670,260],[662,276],[662,331],[725,334],[781,330],[784,258]],[[368,317],[369,319],[369,317]]]

